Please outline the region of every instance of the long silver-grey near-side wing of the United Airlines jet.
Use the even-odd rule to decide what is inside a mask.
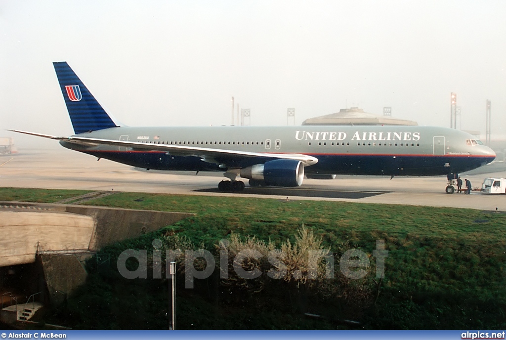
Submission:
[[[95,147],[95,146],[117,146],[130,148],[133,150],[146,150],[146,151],[163,151],[170,155],[177,156],[197,156],[201,157],[203,161],[209,163],[222,163],[222,160],[225,159],[225,163],[229,167],[234,167],[235,161],[238,159],[244,158],[255,158],[260,157],[266,159],[266,161],[270,159],[293,159],[300,160],[303,162],[304,166],[310,166],[316,164],[318,162],[318,158],[313,156],[304,155],[304,154],[286,154],[286,153],[262,153],[262,152],[249,152],[249,151],[238,151],[238,150],[223,150],[223,149],[214,149],[214,148],[203,148],[203,147],[194,147],[189,145],[172,145],[172,144],[155,144],[155,143],[145,143],[145,142],[129,142],[129,141],[119,141],[119,140],[110,140],[110,139],[97,139],[97,138],[88,138],[88,137],[79,137],[79,136],[70,136],[70,137],[56,137],[51,135],[37,134],[26,131],[19,130],[9,130],[12,132],[18,132],[22,134],[44,137],[59,141],[65,141],[68,143],[79,144],[85,147]],[[230,162],[227,162],[229,160]]]

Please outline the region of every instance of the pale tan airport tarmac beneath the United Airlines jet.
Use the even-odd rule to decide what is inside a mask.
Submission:
[[[506,177],[506,164],[494,162],[461,174],[473,188],[487,177]],[[81,189],[208,196],[245,196],[310,199],[357,203],[409,204],[506,211],[506,195],[479,190],[446,194],[445,177],[338,176],[334,180],[305,179],[300,188],[250,188],[241,193],[218,192],[220,173],[146,171],[67,149],[20,149],[0,156],[0,186],[17,188]]]

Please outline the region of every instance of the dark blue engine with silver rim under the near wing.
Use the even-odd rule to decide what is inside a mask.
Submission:
[[[304,165],[300,160],[275,159],[241,169],[240,176],[277,187],[300,187],[304,181]]]

